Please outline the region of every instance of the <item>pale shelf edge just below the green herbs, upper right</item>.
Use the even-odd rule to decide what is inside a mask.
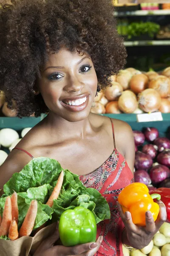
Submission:
[[[126,41],[124,44],[125,44],[126,47],[170,45],[170,40]]]

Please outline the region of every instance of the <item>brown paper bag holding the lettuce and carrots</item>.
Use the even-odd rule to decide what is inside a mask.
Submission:
[[[44,227],[34,237],[23,236],[15,241],[0,239],[0,256],[31,256],[40,243],[54,233],[56,223]]]

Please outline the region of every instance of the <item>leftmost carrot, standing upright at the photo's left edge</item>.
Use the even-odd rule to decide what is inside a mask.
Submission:
[[[0,225],[0,236],[7,236],[9,227],[12,221],[12,207],[11,198],[8,196],[6,198],[5,207],[3,210],[3,219]]]

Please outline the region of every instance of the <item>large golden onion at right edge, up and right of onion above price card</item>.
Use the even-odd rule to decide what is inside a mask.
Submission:
[[[149,83],[149,88],[157,90],[161,98],[170,96],[170,79],[166,76],[158,76]]]

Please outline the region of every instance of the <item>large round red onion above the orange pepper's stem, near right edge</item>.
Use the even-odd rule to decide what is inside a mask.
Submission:
[[[170,169],[166,166],[156,164],[150,169],[150,178],[154,184],[160,183],[170,177]]]

